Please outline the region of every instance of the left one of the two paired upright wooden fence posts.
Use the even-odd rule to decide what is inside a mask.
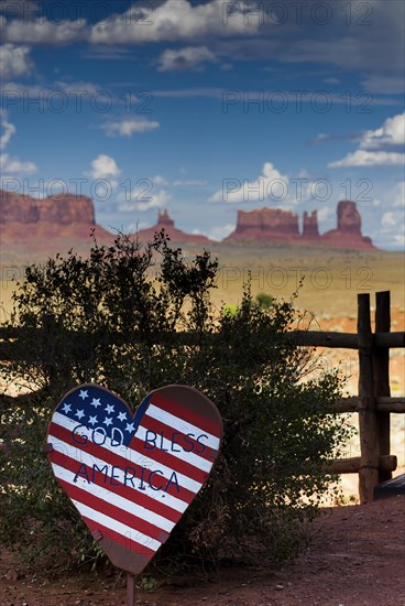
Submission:
[[[359,429],[361,467],[359,472],[360,502],[373,500],[379,484],[380,435],[374,397],[373,335],[370,320],[370,294],[358,295],[359,337]]]

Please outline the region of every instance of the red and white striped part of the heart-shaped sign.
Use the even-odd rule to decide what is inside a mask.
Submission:
[[[182,517],[187,506],[200,490],[218,454],[220,429],[216,423],[160,394],[153,394],[142,418],[136,434],[130,445],[112,445],[106,439],[102,445],[91,442],[92,430],[81,426],[73,440],[73,430],[78,422],[55,412],[48,431],[50,453],[53,470],[90,530],[98,530],[136,553],[152,556],[167,539],[171,530]],[[157,447],[144,447],[146,432],[172,436],[176,433],[175,448],[171,451],[171,440],[163,440],[164,452]],[[204,434],[201,443],[196,437]],[[99,434],[101,436],[101,434]],[[158,437],[160,443],[160,437]],[[189,451],[191,445],[197,451]],[[184,448],[182,447],[184,446]],[[77,475],[83,465],[80,475]],[[97,468],[94,469],[94,465]],[[136,472],[132,481],[124,484],[124,469]],[[141,468],[144,472],[143,489]],[[151,472],[164,486],[175,472],[179,485],[171,485],[167,491],[153,489],[147,481]],[[107,472],[107,474],[106,474]],[[87,473],[90,483],[86,479]],[[111,474],[113,479],[111,484]],[[74,481],[76,477],[76,481]],[[128,479],[128,478],[127,478]]]

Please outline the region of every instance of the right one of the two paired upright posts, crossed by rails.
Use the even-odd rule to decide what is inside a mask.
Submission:
[[[390,291],[375,293],[375,333],[390,333],[391,310]],[[374,347],[374,394],[391,396],[390,390],[390,348]],[[390,413],[377,412],[380,454],[390,454]],[[379,469],[379,481],[392,478],[392,472]]]

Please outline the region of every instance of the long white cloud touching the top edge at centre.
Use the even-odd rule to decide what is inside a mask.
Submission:
[[[136,44],[195,40],[208,35],[249,35],[258,33],[260,29],[258,15],[251,19],[247,17],[253,9],[248,2],[231,4],[222,0],[196,6],[187,0],[166,0],[153,10],[149,4],[134,4],[122,14],[96,23],[90,31],[90,41]],[[227,10],[232,10],[232,14],[227,17]]]

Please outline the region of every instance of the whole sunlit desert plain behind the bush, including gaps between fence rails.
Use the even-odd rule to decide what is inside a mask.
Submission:
[[[316,331],[355,332],[357,295],[370,293],[371,311],[375,305],[375,293],[391,292],[391,331],[405,329],[405,261],[401,251],[382,250],[335,250],[310,249],[286,246],[255,246],[247,244],[210,246],[212,257],[219,260],[216,289],[211,292],[215,307],[236,307],[242,296],[243,284],[250,279],[252,295],[265,293],[273,297],[289,300],[305,313],[305,325]],[[67,248],[66,248],[67,251]],[[185,245],[183,251],[193,258],[201,248]],[[56,251],[52,251],[54,255]],[[64,252],[64,250],[62,250]],[[80,252],[86,248],[80,244]],[[32,255],[20,249],[3,251],[1,257],[1,314],[2,320],[12,306],[12,293],[17,281],[23,279],[24,267],[31,262],[43,262],[47,255]],[[320,365],[325,369],[339,368],[346,378],[346,393],[354,396],[358,389],[358,355],[350,349],[318,349]],[[391,349],[391,394],[405,394],[405,353]],[[357,426],[357,414],[351,415]],[[397,456],[398,468],[394,475],[405,470],[405,418],[391,415],[391,454]],[[359,455],[359,440],[354,436],[348,445],[348,456]],[[357,475],[342,476],[342,488],[347,497],[357,496]]]

